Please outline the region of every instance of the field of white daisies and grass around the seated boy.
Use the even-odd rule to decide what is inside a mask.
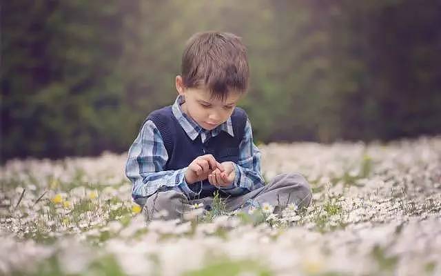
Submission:
[[[441,137],[259,148],[267,181],[309,180],[307,210],[146,224],[126,154],[8,161],[0,275],[441,275]]]

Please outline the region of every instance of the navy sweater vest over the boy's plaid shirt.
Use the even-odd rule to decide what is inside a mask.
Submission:
[[[212,154],[216,161],[222,163],[224,161],[233,161],[238,163],[239,144],[243,139],[245,124],[247,122],[247,114],[242,108],[234,108],[232,113],[232,126],[234,137],[225,131],[220,131],[216,137],[210,137],[202,143],[201,135],[192,140],[188,137],[185,130],[179,124],[172,112],[172,106],[166,106],[150,113],[146,120],[152,120],[161,132],[165,149],[167,150],[168,160],[163,170],[178,170],[187,167],[196,157],[201,155]],[[191,190],[198,193],[201,188],[199,197],[213,196],[218,190],[209,184],[208,179],[202,182],[188,185]],[[219,190],[221,196],[226,194]]]

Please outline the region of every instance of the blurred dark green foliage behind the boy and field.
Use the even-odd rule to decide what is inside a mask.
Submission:
[[[203,30],[248,47],[255,141],[438,134],[440,26],[438,0],[4,1],[1,159],[128,150]]]

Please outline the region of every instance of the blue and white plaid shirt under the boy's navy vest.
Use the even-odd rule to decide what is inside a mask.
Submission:
[[[204,143],[207,139],[218,135],[220,131],[225,131],[234,137],[231,117],[213,130],[205,130],[182,112],[183,101],[183,97],[178,95],[172,106],[172,112],[190,139],[194,140],[201,135]],[[260,172],[260,150],[253,143],[249,120],[245,125],[239,152],[238,164],[234,164],[236,178],[232,185],[220,188],[229,195],[243,195],[264,185]],[[125,166],[125,175],[133,184],[133,199],[149,197],[160,188],[180,191],[189,199],[198,197],[201,192],[194,193],[185,181],[187,167],[179,170],[163,170],[167,159],[167,150],[165,150],[161,133],[151,120],[145,121],[138,137],[130,147]]]

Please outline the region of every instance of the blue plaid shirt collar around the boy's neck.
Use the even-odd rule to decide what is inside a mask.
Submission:
[[[182,128],[187,133],[188,137],[190,139],[194,140],[196,137],[198,137],[199,133],[204,132],[207,137],[209,137],[209,133],[211,132],[211,136],[214,137],[219,134],[221,130],[227,132],[229,135],[234,137],[233,132],[233,125],[232,125],[232,118],[229,117],[227,121],[225,121],[223,124],[220,124],[219,126],[216,126],[213,130],[205,130],[204,128],[201,128],[196,121],[194,121],[191,117],[189,117],[187,114],[182,112],[181,104],[185,102],[185,99],[183,95],[178,95],[176,97],[176,100],[173,103],[172,106],[172,112],[174,117],[178,120],[179,124],[182,126]]]

